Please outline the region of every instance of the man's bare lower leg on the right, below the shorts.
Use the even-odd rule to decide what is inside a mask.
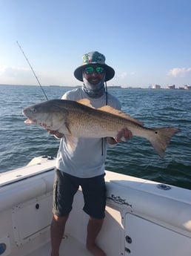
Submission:
[[[104,251],[101,250],[96,245],[96,237],[101,230],[102,224],[104,219],[95,219],[94,217],[90,217],[90,220],[87,224],[87,249],[94,255],[94,256],[107,256]]]

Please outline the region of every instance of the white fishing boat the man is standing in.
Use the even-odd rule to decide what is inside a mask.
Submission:
[[[50,256],[55,160],[36,157],[0,175],[0,255]],[[97,243],[107,256],[190,256],[191,191],[106,171],[107,208]],[[90,256],[78,190],[60,256]]]

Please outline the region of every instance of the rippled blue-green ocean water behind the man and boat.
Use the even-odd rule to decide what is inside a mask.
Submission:
[[[60,99],[70,88],[44,86],[48,99]],[[150,142],[134,137],[107,151],[106,169],[191,189],[191,91],[113,89],[122,110],[149,128],[174,126],[175,134],[164,159]],[[38,86],[0,85],[0,172],[19,168],[33,157],[56,157],[59,140],[41,127],[24,124],[21,111],[44,101]]]

